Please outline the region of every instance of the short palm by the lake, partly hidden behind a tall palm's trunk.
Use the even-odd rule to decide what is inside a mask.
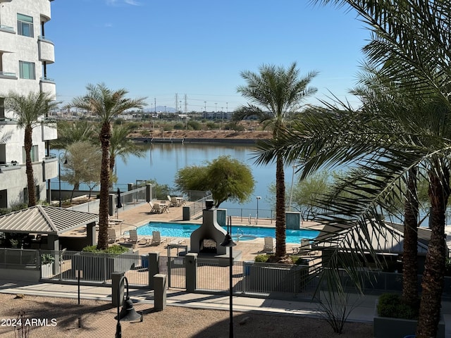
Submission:
[[[127,125],[113,125],[110,144],[111,172],[113,172],[117,156],[120,156],[125,164],[127,163],[127,158],[129,155],[135,155],[137,157],[144,156],[144,149],[137,146],[137,144],[132,142],[131,139],[128,139],[128,134],[130,134],[130,131],[131,129]]]

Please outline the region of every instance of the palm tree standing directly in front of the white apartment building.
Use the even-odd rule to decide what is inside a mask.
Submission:
[[[39,118],[46,116],[58,102],[45,92],[30,92],[28,95],[10,92],[5,100],[6,108],[14,111],[18,127],[25,130],[23,147],[25,149],[25,173],[27,174],[28,206],[36,205],[35,176],[31,158],[33,128],[44,123]]]

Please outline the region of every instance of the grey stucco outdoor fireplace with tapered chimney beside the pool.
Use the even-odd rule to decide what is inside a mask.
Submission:
[[[194,230],[190,238],[190,251],[197,253],[209,253],[214,255],[225,255],[228,248],[221,246],[226,230],[218,224],[217,209],[214,202],[207,200],[203,211],[202,225]]]

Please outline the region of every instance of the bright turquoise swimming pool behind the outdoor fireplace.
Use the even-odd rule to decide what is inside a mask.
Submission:
[[[199,224],[194,223],[157,223],[151,222],[137,228],[137,234],[141,236],[152,236],[152,231],[159,231],[163,237],[190,237],[191,232],[196,230]],[[318,236],[319,231],[310,229],[286,230],[287,243],[300,243],[301,238],[314,239]],[[276,230],[273,227],[232,227],[233,239],[236,240],[237,235],[240,241],[254,239],[255,237],[273,237],[276,238]],[[244,236],[243,236],[244,235]]]

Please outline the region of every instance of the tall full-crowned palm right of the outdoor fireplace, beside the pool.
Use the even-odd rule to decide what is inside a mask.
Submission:
[[[287,69],[276,65],[261,65],[259,73],[244,71],[241,77],[247,82],[237,87],[237,92],[252,104],[241,106],[234,114],[235,120],[256,115],[261,123],[271,125],[273,139],[278,139],[285,121],[301,108],[307,96],[316,93],[308,87],[316,72],[299,77],[296,63]],[[276,155],[276,255],[275,260],[286,256],[285,246],[285,173],[283,157]]]

